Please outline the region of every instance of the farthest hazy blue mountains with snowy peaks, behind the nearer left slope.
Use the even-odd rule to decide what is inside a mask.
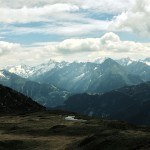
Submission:
[[[7,70],[39,84],[54,85],[71,93],[105,93],[126,85],[135,85],[150,80],[150,66],[130,58],[117,61],[100,58],[95,62],[80,63],[50,60],[36,67],[22,66],[22,68],[24,69],[7,68]],[[66,96],[61,94],[60,97]]]

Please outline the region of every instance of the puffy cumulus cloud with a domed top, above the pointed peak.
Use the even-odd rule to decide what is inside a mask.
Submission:
[[[64,54],[72,54],[79,52],[143,52],[150,51],[149,47],[142,43],[132,41],[122,41],[119,36],[110,32],[106,33],[101,38],[86,38],[86,39],[68,39],[60,43],[49,44],[46,49],[57,51]]]

